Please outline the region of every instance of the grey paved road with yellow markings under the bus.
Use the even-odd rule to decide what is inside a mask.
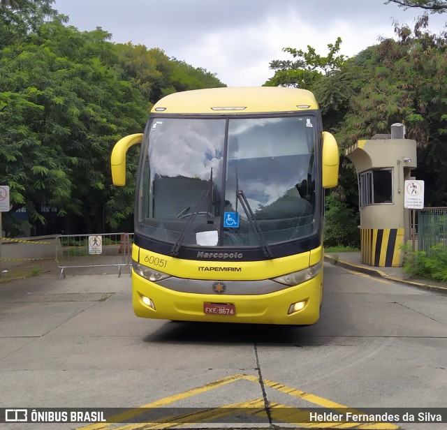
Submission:
[[[170,416],[192,414],[186,420],[197,427],[229,415],[232,428],[293,427],[296,416],[281,415],[281,406],[446,407],[447,295],[330,264],[324,289],[316,325],[284,327],[136,318],[131,279],[117,274],[59,280],[50,272],[0,284],[0,407],[123,408],[127,421],[141,420],[140,406],[163,407]],[[257,413],[240,416],[242,408]],[[169,427],[127,425],[36,428]],[[222,426],[231,427],[214,424]]]

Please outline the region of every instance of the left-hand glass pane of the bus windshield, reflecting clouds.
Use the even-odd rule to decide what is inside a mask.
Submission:
[[[183,244],[197,244],[198,237],[203,242],[200,232],[217,236],[225,124],[225,119],[173,118],[149,124],[138,202],[145,235],[169,243],[182,235]],[[200,198],[203,193],[207,198]],[[215,246],[217,240],[209,243]]]

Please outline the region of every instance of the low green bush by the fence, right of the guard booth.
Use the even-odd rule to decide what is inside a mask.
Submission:
[[[411,251],[411,246],[402,246],[404,251],[404,272],[411,276],[447,281],[447,248],[443,244],[432,246],[425,251]]]

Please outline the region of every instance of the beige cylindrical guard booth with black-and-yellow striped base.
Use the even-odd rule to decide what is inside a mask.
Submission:
[[[358,175],[361,261],[376,267],[402,265],[400,246],[409,239],[404,181],[417,167],[416,140],[393,124],[390,135],[359,140],[345,150]]]

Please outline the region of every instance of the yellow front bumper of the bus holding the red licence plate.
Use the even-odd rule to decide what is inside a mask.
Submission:
[[[283,290],[261,295],[179,292],[159,286],[135,272],[132,276],[133,310],[136,316],[142,318],[210,323],[310,325],[316,323],[320,315],[322,272],[298,286],[284,286]],[[256,291],[256,281],[247,283],[253,284],[253,291]],[[299,310],[291,312],[294,304],[299,304],[295,308]],[[303,306],[302,309],[300,306]]]

